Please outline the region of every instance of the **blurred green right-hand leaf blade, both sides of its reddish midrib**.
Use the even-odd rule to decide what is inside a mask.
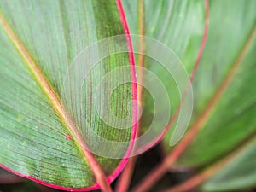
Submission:
[[[232,6],[231,6],[232,4]],[[253,32],[255,2],[212,1],[207,44],[195,77],[195,116],[200,119],[218,86],[227,78]],[[256,131],[255,38],[236,75],[213,108],[206,125],[183,154],[180,164],[200,166],[218,159]],[[203,79],[203,80],[202,80]]]

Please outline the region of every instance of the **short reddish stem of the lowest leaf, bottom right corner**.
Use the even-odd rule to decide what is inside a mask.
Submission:
[[[207,168],[205,171],[199,173],[198,175],[191,177],[188,181],[178,184],[170,189],[166,189],[162,192],[183,192],[194,189],[197,185],[206,181],[209,177],[212,177],[216,172],[220,171],[224,166],[227,166],[231,160],[234,160],[239,154],[241,154],[250,144],[255,142],[255,134],[254,137],[249,139],[247,143],[245,143],[242,147],[236,149],[230,155],[225,157],[223,160],[219,160],[213,166]]]

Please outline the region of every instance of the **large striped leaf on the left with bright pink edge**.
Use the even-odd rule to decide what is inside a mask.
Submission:
[[[124,34],[116,2],[10,0],[0,3],[0,14],[0,164],[22,177],[58,189],[96,189],[98,185],[79,141],[71,134],[70,127],[56,110],[54,99],[46,94],[44,84],[26,58],[32,58],[85,143],[96,146],[93,132],[109,141],[129,142],[131,125],[126,125],[128,129],[116,129],[102,121],[96,108],[100,102],[101,110],[107,111],[104,94],[120,79],[130,79],[127,53],[110,55],[90,69],[81,90],[83,105],[78,106],[72,98],[78,94],[77,88],[73,88],[72,93],[65,92],[65,86],[70,86],[65,84],[67,71],[83,49],[103,38]],[[25,51],[20,51],[17,44]],[[109,41],[106,48],[115,44]],[[97,49],[93,54],[102,52],[104,49]],[[125,69],[108,84],[103,84],[102,94],[96,95],[92,89],[117,67]],[[77,73],[71,79],[71,84],[81,80]],[[127,108],[127,103],[131,102],[132,91],[129,83],[113,91],[114,115],[130,118],[132,108]],[[108,120],[111,121],[111,117]],[[111,154],[120,148],[108,150]],[[102,156],[96,156],[96,160],[110,182],[125,163]]]

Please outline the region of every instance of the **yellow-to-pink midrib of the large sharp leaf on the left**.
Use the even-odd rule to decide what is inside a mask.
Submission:
[[[61,120],[67,127],[67,131],[70,132],[71,136],[73,137],[73,141],[79,151],[81,152],[84,161],[88,162],[91,171],[94,173],[97,182],[101,185],[101,183],[107,182],[107,178],[105,177],[104,172],[102,171],[101,166],[99,166],[97,160],[95,159],[94,155],[90,153],[88,150],[84,138],[79,133],[79,130],[73,119],[67,113],[66,108],[63,107],[61,104],[60,97],[55,93],[51,84],[44,76],[43,71],[39,67],[38,63],[36,63],[32,56],[27,51],[24,44],[21,43],[20,39],[16,36],[15,32],[12,30],[11,26],[9,26],[8,21],[5,19],[3,13],[0,11],[0,24],[3,26],[3,31],[8,36],[10,42],[14,45],[15,49],[17,50],[18,54],[24,60],[24,64],[32,73],[34,79],[36,79],[38,85],[44,90],[45,95],[49,98],[49,102],[52,104],[52,108],[55,109],[55,112],[58,113]]]

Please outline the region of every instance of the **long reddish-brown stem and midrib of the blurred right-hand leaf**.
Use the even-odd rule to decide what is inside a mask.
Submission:
[[[162,177],[169,169],[169,166],[172,166],[173,163],[183,154],[189,144],[193,141],[197,132],[200,131],[201,127],[205,125],[207,119],[209,118],[212,109],[218,103],[220,97],[224,94],[224,91],[228,88],[231,79],[234,77],[238,67],[241,64],[241,61],[244,59],[247,54],[247,50],[249,49],[251,43],[253,42],[253,38],[256,33],[256,26],[253,28],[253,32],[251,32],[249,38],[247,39],[246,44],[242,47],[240,54],[236,58],[236,61],[233,63],[230,72],[224,78],[222,84],[220,84],[217,92],[214,96],[212,96],[212,100],[208,103],[207,108],[201,113],[199,119],[195,122],[195,124],[191,127],[185,137],[181,140],[180,143],[177,144],[177,147],[173,149],[172,153],[167,155],[165,160],[154,168],[152,172],[148,174],[147,177],[143,178],[142,183],[136,186],[132,191],[133,192],[143,192],[147,191],[156,183],[160,177]]]

